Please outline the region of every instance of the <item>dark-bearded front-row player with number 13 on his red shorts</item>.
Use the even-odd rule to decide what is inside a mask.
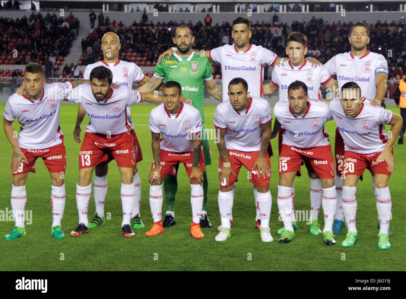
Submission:
[[[68,98],[82,103],[90,118],[79,153],[79,181],[76,185],[79,225],[71,232],[71,236],[88,232],[87,211],[93,170],[111,154],[121,175],[122,232],[127,238],[133,237],[135,234],[131,229],[130,220],[135,204],[133,175],[136,159],[134,140],[126,118],[127,106],[143,100],[159,104],[162,103],[162,96],[157,97],[153,93],[141,94],[126,86],[113,90],[112,72],[104,66],[98,66],[91,71],[90,81],[91,85],[81,85],[71,90],[68,95]]]

